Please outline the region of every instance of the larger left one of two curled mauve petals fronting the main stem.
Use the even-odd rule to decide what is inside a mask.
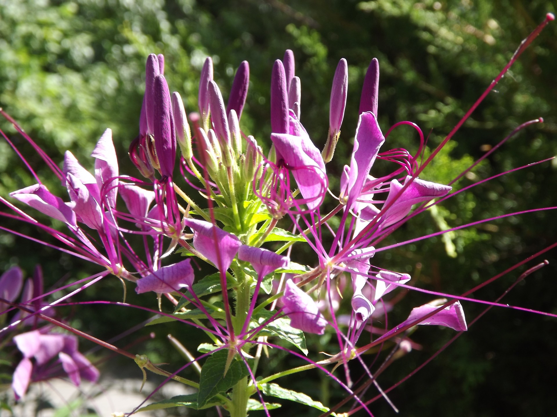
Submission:
[[[217,268],[227,270],[242,246],[242,242],[231,233],[203,220],[185,219],[184,224],[194,231],[193,246]],[[218,255],[217,255],[218,247]]]

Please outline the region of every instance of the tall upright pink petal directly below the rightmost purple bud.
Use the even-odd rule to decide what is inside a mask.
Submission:
[[[356,127],[354,150],[350,160],[350,177],[346,186],[348,207],[352,207],[358,199],[369,170],[375,162],[379,148],[383,145],[385,137],[379,128],[377,118],[372,112],[361,113]]]

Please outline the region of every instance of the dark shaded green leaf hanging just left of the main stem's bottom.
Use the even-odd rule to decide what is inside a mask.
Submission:
[[[200,407],[206,405],[215,395],[226,393],[239,380],[249,374],[243,361],[233,360],[226,375],[224,375],[227,358],[228,350],[222,349],[209,356],[203,364],[197,397],[197,404]]]

